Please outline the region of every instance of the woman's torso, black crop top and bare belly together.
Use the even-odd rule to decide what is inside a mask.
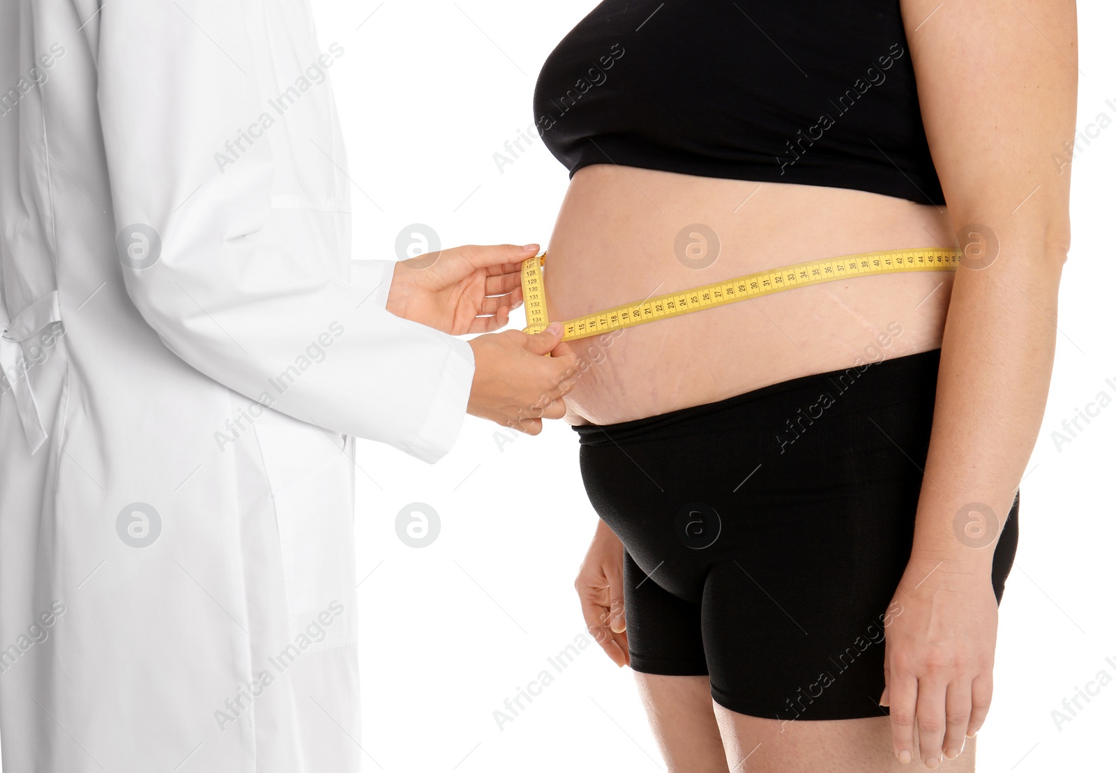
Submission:
[[[535,110],[574,170],[548,247],[551,319],[955,244],[897,0],[606,0],[548,59]],[[623,422],[935,348],[951,280],[858,278],[573,341],[591,365],[567,418]]]

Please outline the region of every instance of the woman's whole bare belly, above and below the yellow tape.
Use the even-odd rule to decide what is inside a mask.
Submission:
[[[712,262],[700,242],[686,253],[693,224],[720,242]],[[791,263],[955,244],[930,204],[595,165],[574,175],[555,224],[547,303],[566,320]],[[566,418],[626,422],[937,348],[952,287],[941,271],[853,278],[570,341],[585,364]]]

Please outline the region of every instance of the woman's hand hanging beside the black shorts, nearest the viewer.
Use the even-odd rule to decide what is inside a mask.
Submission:
[[[899,762],[952,760],[984,723],[992,702],[999,610],[991,572],[951,571],[912,560],[895,591],[901,611],[886,628],[879,699],[891,707]],[[917,733],[915,732],[917,729]],[[918,748],[915,748],[917,740]]]

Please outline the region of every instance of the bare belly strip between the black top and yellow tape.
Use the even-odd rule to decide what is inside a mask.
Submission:
[[[590,166],[555,224],[547,300],[569,319],[808,261],[953,249],[949,228],[939,207],[863,191]]]

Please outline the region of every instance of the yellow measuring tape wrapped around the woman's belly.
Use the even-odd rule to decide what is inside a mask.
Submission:
[[[820,284],[849,277],[869,277],[899,271],[954,271],[961,262],[961,250],[921,248],[917,250],[887,250],[864,252],[844,258],[811,260],[781,269],[760,271],[723,282],[703,284],[692,290],[655,296],[644,301],[625,303],[594,315],[586,315],[562,322],[562,340],[570,341],[603,332],[654,322],[679,315],[725,306],[749,298],[769,296],[796,287]],[[542,265],[546,253],[523,261],[523,308],[527,310],[525,332],[542,332],[549,325],[546,291],[542,287]]]

